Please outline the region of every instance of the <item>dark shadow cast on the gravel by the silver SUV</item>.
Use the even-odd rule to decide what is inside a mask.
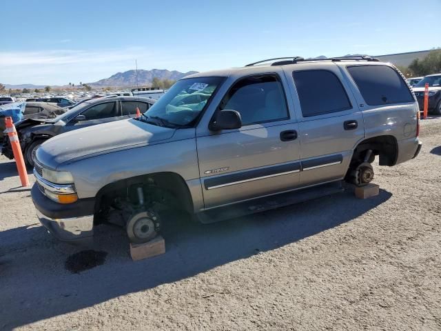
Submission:
[[[347,191],[209,225],[169,220],[163,227],[166,253],[137,262],[129,257],[125,232],[100,225],[92,248],[107,252],[107,260],[79,274],[65,270],[65,260],[90,248],[52,239],[37,224],[0,232],[0,328],[88,308],[295,243],[353,221],[390,197],[380,190],[378,197],[358,200]]]

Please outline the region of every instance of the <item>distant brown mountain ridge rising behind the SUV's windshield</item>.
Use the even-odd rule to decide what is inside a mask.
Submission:
[[[189,74],[195,74],[197,71],[178,72],[166,69],[138,70],[138,85],[145,86],[152,83],[154,77],[158,79],[181,79]],[[136,70],[128,70],[126,72],[118,72],[109,78],[88,83],[92,87],[103,86],[136,86]]]

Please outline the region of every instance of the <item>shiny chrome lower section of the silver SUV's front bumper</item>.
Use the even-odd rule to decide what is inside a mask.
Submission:
[[[92,237],[94,234],[94,215],[72,217],[70,219],[51,219],[39,210],[37,217],[48,231],[61,241],[74,241]]]

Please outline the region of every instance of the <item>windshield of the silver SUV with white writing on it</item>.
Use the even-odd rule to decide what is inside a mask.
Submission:
[[[153,119],[170,127],[192,125],[222,81],[223,77],[181,79],[145,112],[141,120]]]

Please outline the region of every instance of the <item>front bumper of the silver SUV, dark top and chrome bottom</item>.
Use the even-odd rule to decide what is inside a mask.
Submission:
[[[91,237],[94,226],[94,199],[81,199],[61,204],[45,197],[34,184],[32,201],[40,223],[61,241],[76,241]]]

